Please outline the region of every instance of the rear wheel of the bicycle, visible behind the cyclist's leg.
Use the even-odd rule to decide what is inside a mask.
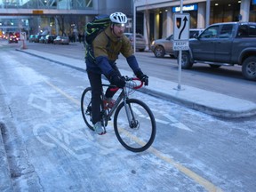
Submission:
[[[85,124],[93,130],[92,124],[92,88],[87,87],[81,97],[81,111]]]

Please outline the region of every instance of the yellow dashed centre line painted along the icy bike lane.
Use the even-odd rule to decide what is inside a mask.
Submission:
[[[68,95],[67,92],[62,91],[59,87],[55,86],[54,84],[51,84],[50,82],[48,82],[46,80],[44,80],[44,82],[46,84],[48,84],[49,86],[51,86],[56,92],[60,92],[60,94],[63,95],[64,97],[66,97],[68,100],[71,100],[76,105],[80,106],[80,102],[78,100],[76,100],[75,98],[73,98],[71,95]],[[133,140],[138,142],[139,144],[143,143],[143,141],[141,141],[139,138],[136,138],[136,139],[133,138]],[[57,143],[60,145],[59,141]],[[60,145],[60,147],[61,147],[61,145]],[[175,162],[171,157],[164,156],[164,154],[161,151],[157,150],[156,148],[153,148],[151,146],[150,148],[148,148],[148,151],[150,151],[152,154],[154,154],[155,156],[157,156],[158,158],[160,158],[164,162],[166,162],[168,164],[171,164],[177,170],[184,173],[186,176],[188,176],[192,180],[195,180],[196,183],[203,186],[206,190],[208,190],[210,192],[222,192],[222,189],[215,186],[211,181],[204,179],[200,175],[196,174],[196,172],[193,172],[193,171],[189,170],[187,167],[183,166],[182,164],[179,164],[179,163]]]

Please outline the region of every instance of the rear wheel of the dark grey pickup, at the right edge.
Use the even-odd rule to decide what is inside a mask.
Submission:
[[[256,80],[256,57],[252,56],[244,60],[242,74],[248,80]]]

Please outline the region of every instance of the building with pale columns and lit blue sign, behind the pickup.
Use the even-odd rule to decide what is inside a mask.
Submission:
[[[137,31],[147,39],[172,34],[172,17],[180,12],[180,0],[135,0],[134,6],[140,22]],[[216,22],[256,21],[256,0],[183,0],[182,6],[182,12],[189,13],[190,28],[206,28]]]

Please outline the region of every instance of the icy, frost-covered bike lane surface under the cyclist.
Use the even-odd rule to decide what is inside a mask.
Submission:
[[[112,123],[103,136],[85,126],[83,71],[4,49],[0,63],[14,191],[256,190],[255,118],[218,119],[134,92],[153,111],[157,132],[151,148],[132,153]]]

